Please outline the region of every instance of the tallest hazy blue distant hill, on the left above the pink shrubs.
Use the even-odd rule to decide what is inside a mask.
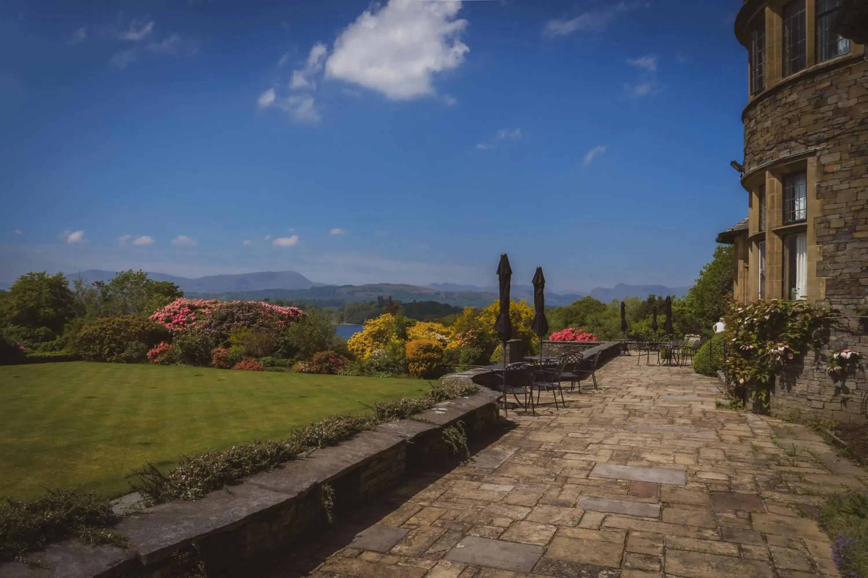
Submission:
[[[87,270],[81,273],[68,273],[70,281],[79,278],[94,283],[109,281],[114,271]],[[306,276],[295,271],[260,271],[239,275],[209,275],[188,279],[165,273],[148,273],[155,281],[170,281],[178,285],[184,293],[224,293],[237,291],[260,291],[262,289],[310,289],[320,283],[313,283]]]

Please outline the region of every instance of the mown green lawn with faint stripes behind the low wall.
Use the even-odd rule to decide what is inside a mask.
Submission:
[[[427,381],[149,364],[0,367],[0,497],[77,487],[113,497],[145,462],[161,468],[376,401]]]

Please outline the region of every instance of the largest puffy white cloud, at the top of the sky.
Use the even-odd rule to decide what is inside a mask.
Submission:
[[[460,2],[390,0],[365,10],[334,42],[325,76],[408,100],[435,94],[433,75],[457,68],[470,50],[459,36]]]

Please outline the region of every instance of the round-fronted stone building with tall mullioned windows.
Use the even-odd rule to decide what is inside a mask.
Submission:
[[[747,49],[741,185],[747,218],[719,243],[736,254],[734,296],[840,308],[830,352],[868,359],[868,59],[842,25],[852,0],[746,0],[735,36]],[[843,6],[842,6],[843,4]],[[851,22],[852,24],[852,22]],[[860,318],[861,317],[861,318]],[[783,391],[783,384],[788,388]],[[832,382],[824,354],[779,379],[773,412],[864,419],[864,367]],[[778,407],[775,407],[778,404]]]

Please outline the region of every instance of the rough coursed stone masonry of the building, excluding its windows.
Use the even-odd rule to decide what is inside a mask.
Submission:
[[[823,288],[817,304],[841,309],[846,328],[828,347],[807,354],[779,376],[775,415],[799,419],[865,420],[865,366],[848,379],[825,373],[825,354],[849,347],[868,359],[868,336],[858,307],[868,304],[868,59],[845,57],[783,81],[746,107],[745,168],[773,171],[792,155],[816,158],[819,214],[811,215]],[[810,194],[809,194],[810,198]],[[810,212],[810,209],[809,209]]]

